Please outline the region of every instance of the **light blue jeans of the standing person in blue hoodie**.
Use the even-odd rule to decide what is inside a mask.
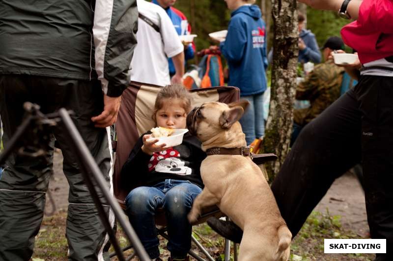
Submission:
[[[246,134],[247,145],[250,145],[255,138],[265,135],[265,121],[263,119],[263,93],[241,96],[241,99],[248,100],[250,106],[239,120],[242,130]]]

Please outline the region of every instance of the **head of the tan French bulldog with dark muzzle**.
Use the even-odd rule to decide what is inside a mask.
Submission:
[[[187,128],[201,142],[207,141],[229,129],[242,117],[248,105],[248,101],[229,104],[216,101],[205,102],[188,114]]]

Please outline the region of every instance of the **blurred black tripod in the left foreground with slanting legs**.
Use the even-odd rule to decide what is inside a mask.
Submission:
[[[80,133],[78,132],[76,126],[74,125],[72,119],[70,118],[69,112],[65,109],[60,109],[57,113],[51,113],[44,115],[39,111],[39,106],[26,102],[24,104],[25,110],[27,112],[25,119],[22,124],[16,130],[14,136],[9,141],[9,146],[4,149],[0,156],[0,165],[5,163],[5,160],[9,155],[17,150],[18,153],[30,157],[41,157],[45,155],[45,148],[47,144],[45,142],[48,140],[48,129],[51,126],[61,124],[64,127],[64,132],[69,137],[70,145],[75,155],[77,155],[79,166],[81,167],[82,174],[84,176],[84,181],[90,191],[90,194],[94,200],[94,204],[98,210],[101,221],[104,224],[105,230],[109,234],[110,240],[113,244],[114,250],[120,261],[125,261],[122,249],[120,248],[119,242],[117,241],[115,234],[112,230],[111,224],[109,222],[109,217],[105,213],[104,207],[98,197],[98,193],[95,190],[94,185],[98,186],[101,190],[104,198],[109,203],[112,208],[114,215],[121,227],[124,230],[125,235],[134,247],[136,254],[141,261],[149,261],[149,256],[144,250],[138,236],[136,235],[134,229],[131,227],[128,220],[124,218],[122,214],[123,211],[119,204],[116,202],[111,192],[107,188],[107,184],[103,175],[95,163],[93,157],[90,154],[86,144],[84,143]],[[36,137],[33,137],[32,145],[20,146],[23,141],[23,137],[28,133],[28,130],[33,128]]]

